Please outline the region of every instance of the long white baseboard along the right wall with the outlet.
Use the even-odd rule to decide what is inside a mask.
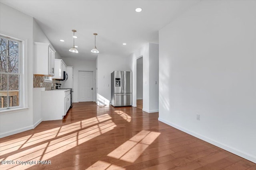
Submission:
[[[245,158],[245,159],[247,159],[247,160],[250,160],[250,161],[256,163],[256,156],[254,156],[254,155],[252,155],[252,154],[248,154],[248,153],[246,153],[246,152],[243,152],[243,151],[241,151],[241,150],[238,150],[238,149],[235,149],[235,148],[233,148],[233,147],[227,146],[227,145],[225,145],[225,144],[223,144],[223,143],[220,143],[220,142],[218,142],[218,141],[212,140],[212,139],[210,139],[210,138],[208,138],[208,137],[205,137],[205,136],[200,135],[200,134],[198,134],[198,133],[195,133],[195,132],[193,132],[193,131],[189,131],[188,129],[185,129],[185,128],[180,127],[180,126],[178,126],[178,125],[176,125],[176,124],[173,124],[173,123],[170,123],[170,122],[168,122],[168,121],[165,121],[164,119],[158,118],[158,121],[161,121],[161,122],[163,122],[163,123],[165,123],[165,124],[167,124],[167,125],[170,125],[170,126],[176,128],[176,129],[179,129],[180,131],[186,132],[186,133],[188,133],[188,134],[190,134],[190,135],[192,135],[192,136],[194,136],[194,137],[197,137],[197,138],[199,138],[199,139],[202,139],[203,141],[206,141],[206,142],[208,142],[208,143],[210,143],[210,144],[212,144],[212,145],[215,145],[215,146],[217,146],[217,147],[220,147],[220,148],[222,148],[222,149],[224,149],[224,150],[227,150],[228,152],[231,152],[231,153],[233,153],[233,154],[236,154],[236,155],[238,155],[238,156],[241,156],[242,158]]]

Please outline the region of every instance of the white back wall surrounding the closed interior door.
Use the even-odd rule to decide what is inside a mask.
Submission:
[[[93,71],[94,76],[94,98],[96,100],[96,61],[95,60],[83,60],[74,58],[62,58],[67,66],[73,66],[73,102],[78,102],[78,71]],[[61,83],[61,82],[60,82]]]

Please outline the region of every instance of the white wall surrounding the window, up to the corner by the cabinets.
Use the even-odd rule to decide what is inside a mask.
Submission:
[[[17,111],[1,111],[0,137],[33,129],[33,18],[5,4],[0,4],[0,33],[24,40],[25,107]]]

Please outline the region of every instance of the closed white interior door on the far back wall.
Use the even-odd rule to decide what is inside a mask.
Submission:
[[[78,71],[78,102],[93,101],[93,72]]]

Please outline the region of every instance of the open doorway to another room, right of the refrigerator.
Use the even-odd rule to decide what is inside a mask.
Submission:
[[[136,65],[136,103],[143,109],[143,57],[137,59]]]

